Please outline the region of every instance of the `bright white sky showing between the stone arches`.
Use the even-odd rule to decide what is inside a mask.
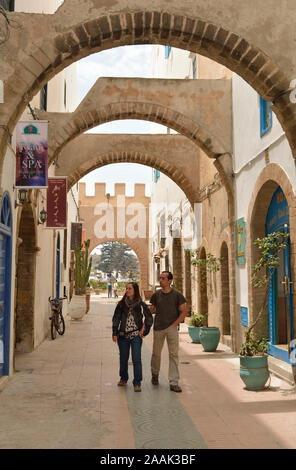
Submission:
[[[79,102],[85,97],[100,77],[142,77],[151,78],[151,45],[123,46],[93,54],[77,62]],[[112,121],[102,124],[91,133],[149,134],[150,122],[137,120]],[[166,133],[166,128],[163,128]],[[92,171],[81,181],[87,183],[86,192],[91,195],[95,181],[107,181],[107,192],[113,194],[115,182],[127,183],[127,195],[133,193],[133,184],[145,183],[146,195],[150,196],[152,169],[134,163],[116,163]]]

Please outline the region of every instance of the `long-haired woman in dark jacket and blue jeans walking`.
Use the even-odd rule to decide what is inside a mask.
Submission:
[[[128,381],[128,359],[131,348],[134,366],[134,390],[135,392],[141,391],[142,338],[148,335],[152,323],[151,312],[141,299],[138,284],[129,282],[112,318],[112,338],[114,342],[117,341],[119,348],[120,380],[117,384],[119,387],[126,385]]]

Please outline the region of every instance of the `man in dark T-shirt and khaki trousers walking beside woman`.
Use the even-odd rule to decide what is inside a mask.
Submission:
[[[153,327],[153,351],[151,358],[151,382],[158,385],[161,351],[166,339],[169,350],[169,384],[173,392],[182,392],[179,381],[179,333],[178,325],[186,317],[186,299],[171,287],[173,275],[163,271],[159,278],[161,289],[150,299],[151,313],[155,313]]]

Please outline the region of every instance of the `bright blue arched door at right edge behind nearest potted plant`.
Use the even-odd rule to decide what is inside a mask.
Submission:
[[[279,186],[268,208],[266,235],[273,232],[290,231],[289,206],[282,188]],[[293,331],[293,289],[291,282],[290,242],[280,252],[280,263],[272,274],[269,283],[268,336],[270,353],[289,361],[289,345]]]

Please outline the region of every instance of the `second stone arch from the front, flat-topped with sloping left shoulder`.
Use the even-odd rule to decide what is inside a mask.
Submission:
[[[86,130],[120,119],[171,127],[212,158],[232,152],[230,80],[100,78],[72,113],[36,113],[49,121],[50,162]]]

